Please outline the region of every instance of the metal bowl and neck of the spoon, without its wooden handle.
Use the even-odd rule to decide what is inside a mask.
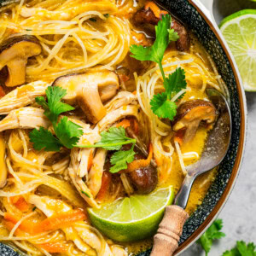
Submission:
[[[174,201],[175,205],[183,209],[187,206],[195,178],[218,166],[224,160],[230,146],[232,124],[229,104],[218,90],[208,89],[207,95],[218,110],[218,120],[208,135],[200,160],[186,166],[188,174]]]

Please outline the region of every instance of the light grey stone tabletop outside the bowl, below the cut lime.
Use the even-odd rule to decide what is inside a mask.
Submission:
[[[209,1],[209,0],[201,0]],[[246,3],[247,2],[247,3]],[[248,4],[248,5],[246,5]],[[217,22],[231,9],[237,11],[249,8],[247,0],[215,0],[213,13]],[[218,9],[217,9],[218,8]],[[226,236],[213,243],[209,256],[221,256],[225,250],[236,245],[236,241],[253,241],[256,243],[256,93],[247,93],[247,144],[240,175],[236,181],[230,199],[218,218],[224,221]],[[203,256],[197,244],[189,247],[182,256]]]

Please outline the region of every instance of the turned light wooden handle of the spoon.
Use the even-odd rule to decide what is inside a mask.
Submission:
[[[154,236],[154,246],[150,256],[172,256],[177,250],[178,241],[183,233],[183,225],[189,214],[181,207],[166,207],[157,234]]]

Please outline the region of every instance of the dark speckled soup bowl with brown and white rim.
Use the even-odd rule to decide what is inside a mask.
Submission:
[[[0,5],[1,2],[0,0]],[[189,26],[212,56],[218,67],[218,72],[229,87],[233,119],[233,133],[229,152],[221,164],[218,176],[212,183],[212,187],[209,189],[203,203],[184,225],[180,246],[177,249],[177,253],[181,253],[212,224],[230,195],[241,166],[246,137],[247,109],[236,63],[218,30],[218,26],[211,21],[211,12],[197,0],[158,0],[158,2]],[[208,0],[207,3],[212,3],[212,0]],[[140,253],[139,256],[149,254],[150,250]],[[2,245],[0,246],[0,255],[17,256],[18,253]]]

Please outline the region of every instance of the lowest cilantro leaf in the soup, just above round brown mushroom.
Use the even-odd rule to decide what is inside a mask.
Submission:
[[[134,160],[134,155],[136,154],[133,150],[134,144],[130,150],[119,150],[113,154],[110,159],[110,163],[113,165],[109,172],[116,173],[121,170],[127,169],[127,163],[130,164]]]

